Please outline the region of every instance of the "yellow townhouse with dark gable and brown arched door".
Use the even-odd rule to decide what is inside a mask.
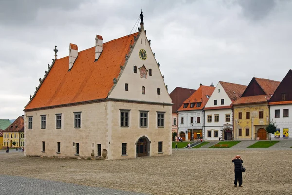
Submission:
[[[269,124],[268,100],[280,82],[253,78],[233,106],[234,140],[266,140]]]

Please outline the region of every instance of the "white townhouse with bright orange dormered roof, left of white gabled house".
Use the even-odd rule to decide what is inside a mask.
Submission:
[[[207,104],[214,86],[200,87],[178,109],[178,136],[183,141],[204,137],[204,107]]]

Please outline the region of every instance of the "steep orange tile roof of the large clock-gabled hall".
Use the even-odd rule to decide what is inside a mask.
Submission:
[[[78,52],[70,71],[69,57],[57,59],[32,100],[29,109],[105,99],[124,66],[137,33],[103,44],[103,52],[95,61],[95,47]]]

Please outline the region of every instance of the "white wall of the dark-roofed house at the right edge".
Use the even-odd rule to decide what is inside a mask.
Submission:
[[[283,109],[289,109],[289,117],[283,118]],[[280,117],[275,118],[275,110],[280,110]],[[274,140],[283,140],[283,129],[289,129],[289,140],[292,140],[292,104],[287,105],[271,105],[270,106],[270,120],[276,122],[277,129],[280,129],[280,138],[275,138],[275,135],[272,135]],[[285,138],[284,140],[287,140]]]

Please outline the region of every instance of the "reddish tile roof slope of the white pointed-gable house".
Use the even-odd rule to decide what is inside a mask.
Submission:
[[[247,87],[246,85],[239,85],[239,84],[230,83],[230,82],[222,82],[222,81],[219,81],[219,82],[232,102],[240,98]]]

